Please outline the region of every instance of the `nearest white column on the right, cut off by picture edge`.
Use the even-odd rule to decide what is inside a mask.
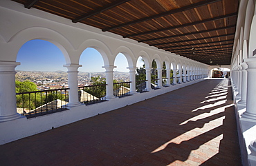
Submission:
[[[247,71],[247,96],[246,96],[246,112],[241,114],[244,118],[256,120],[256,59],[245,59],[248,65]]]

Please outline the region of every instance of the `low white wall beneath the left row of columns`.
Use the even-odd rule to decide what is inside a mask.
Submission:
[[[138,103],[140,101],[144,101],[147,98],[152,98],[154,96],[165,94],[167,92],[171,92],[173,90],[177,90],[181,87],[192,85],[194,83],[199,83],[200,81],[204,80],[205,79],[200,79],[182,84],[171,85],[170,87],[163,87],[158,90],[137,93],[122,98],[113,98],[109,101],[105,101],[102,103],[71,107],[69,110],[56,112],[53,114],[47,114],[44,116],[38,116],[36,118],[27,119],[25,116],[22,116],[21,118],[13,121],[6,121],[0,123],[0,145],[10,143],[11,141],[16,141],[26,136],[45,132],[52,129],[53,127],[60,127],[62,125],[67,125],[69,123],[80,121],[84,118],[89,118],[91,116],[96,116],[104,112],[116,110],[120,107],[125,107],[127,105]]]

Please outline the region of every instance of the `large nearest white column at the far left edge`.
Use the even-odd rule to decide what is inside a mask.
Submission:
[[[15,68],[20,63],[0,61],[0,122],[22,116],[17,113],[15,92]]]

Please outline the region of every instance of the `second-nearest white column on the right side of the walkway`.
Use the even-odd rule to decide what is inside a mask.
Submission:
[[[246,105],[246,94],[247,94],[247,65],[241,63],[241,99],[238,102],[239,105]]]

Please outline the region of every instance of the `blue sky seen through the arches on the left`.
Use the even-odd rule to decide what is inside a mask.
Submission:
[[[32,40],[22,45],[17,54],[17,62],[21,65],[17,66],[16,70],[24,71],[49,71],[57,70],[67,71],[63,65],[66,64],[64,55],[56,45],[44,40]],[[138,66],[142,65],[141,60],[138,60]],[[87,48],[82,52],[80,57],[80,65],[78,68],[81,72],[104,72],[104,65],[100,52],[93,48]],[[127,59],[123,54],[116,56],[115,64],[118,68],[114,70],[120,72],[129,72],[127,70]]]

